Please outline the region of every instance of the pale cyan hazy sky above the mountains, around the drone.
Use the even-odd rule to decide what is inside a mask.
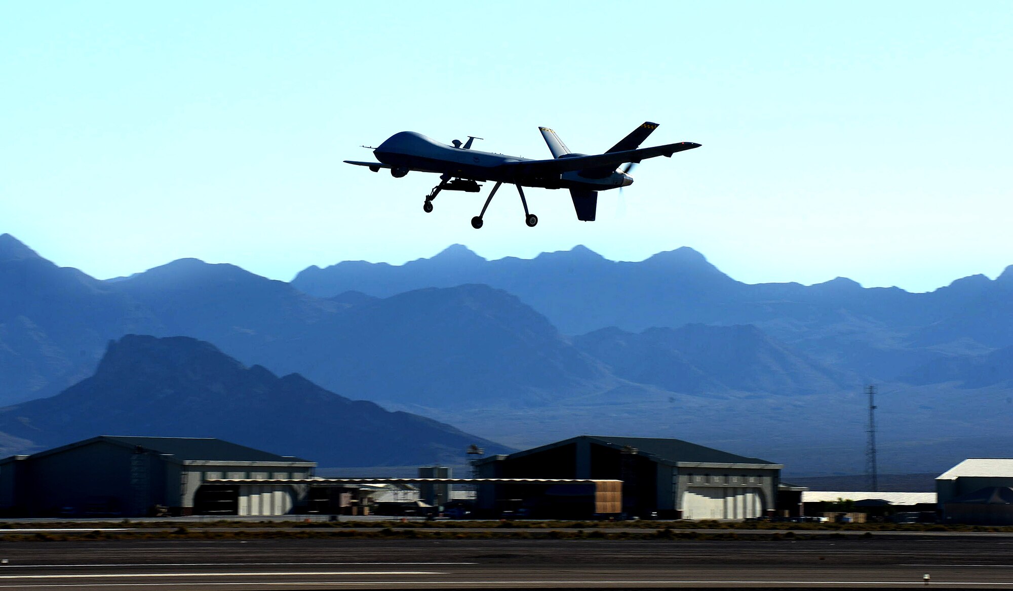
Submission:
[[[97,277],[181,257],[291,279],[462,243],[691,246],[747,281],[927,290],[1013,263],[1013,2],[0,1],[0,233]],[[622,198],[445,192],[342,164],[402,131],[609,148]]]

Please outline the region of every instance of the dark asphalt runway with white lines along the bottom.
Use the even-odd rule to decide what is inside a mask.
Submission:
[[[0,544],[0,589],[673,587],[1013,589],[1013,540],[324,538]]]

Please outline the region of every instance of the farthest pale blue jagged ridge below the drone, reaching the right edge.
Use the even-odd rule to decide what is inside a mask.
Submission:
[[[395,266],[344,261],[292,281],[318,297],[355,289],[387,297],[420,287],[485,283],[518,296],[564,334],[607,327],[639,332],[685,324],[747,325],[866,381],[1013,345],[1013,267],[999,278],[957,279],[930,293],[863,288],[838,277],[815,285],[747,284],[687,247],[639,262],[577,246],[534,259],[487,261],[461,245]]]

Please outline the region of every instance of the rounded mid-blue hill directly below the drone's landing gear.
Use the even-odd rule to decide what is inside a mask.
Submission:
[[[308,327],[289,362],[372,400],[530,407],[616,382],[542,315],[487,285],[408,291]]]

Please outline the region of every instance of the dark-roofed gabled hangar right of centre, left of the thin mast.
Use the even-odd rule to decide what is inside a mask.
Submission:
[[[619,480],[627,516],[684,519],[772,515],[784,468],[680,439],[593,435],[474,463],[478,478]],[[565,486],[479,485],[477,509],[538,516],[572,493]]]

